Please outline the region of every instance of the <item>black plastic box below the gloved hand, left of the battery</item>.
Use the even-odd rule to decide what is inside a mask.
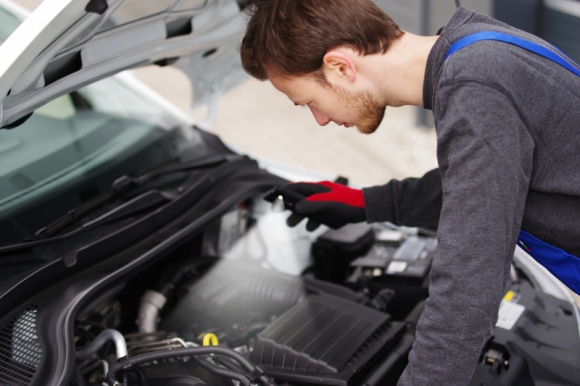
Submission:
[[[374,229],[368,224],[348,224],[330,229],[312,244],[313,271],[316,278],[344,283],[350,263],[364,256],[375,241]]]

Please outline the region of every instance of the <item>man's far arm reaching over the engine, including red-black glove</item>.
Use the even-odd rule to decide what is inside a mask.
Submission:
[[[267,196],[282,195],[295,226],[308,218],[306,229],[320,224],[337,229],[356,222],[389,221],[397,225],[437,229],[441,211],[441,177],[435,169],[421,178],[391,180],[382,186],[354,189],[330,181],[291,183]]]

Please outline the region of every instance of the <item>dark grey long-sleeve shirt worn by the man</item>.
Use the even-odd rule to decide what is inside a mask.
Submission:
[[[428,192],[419,200],[427,223],[441,204],[429,299],[400,385],[467,385],[496,323],[520,228],[580,256],[580,77],[496,41],[444,62],[453,42],[484,30],[548,46],[459,8],[430,53],[424,83],[441,185],[430,172],[364,189],[369,222],[407,225],[394,208],[406,192],[420,196],[415,187]]]

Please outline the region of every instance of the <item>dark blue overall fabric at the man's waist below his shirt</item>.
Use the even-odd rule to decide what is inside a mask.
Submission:
[[[580,258],[520,231],[518,245],[572,291],[580,295]]]

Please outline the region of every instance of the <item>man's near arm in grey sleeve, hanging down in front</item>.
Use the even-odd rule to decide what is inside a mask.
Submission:
[[[497,320],[533,165],[533,141],[508,97],[466,82],[441,92],[438,247],[405,386],[468,384]]]

